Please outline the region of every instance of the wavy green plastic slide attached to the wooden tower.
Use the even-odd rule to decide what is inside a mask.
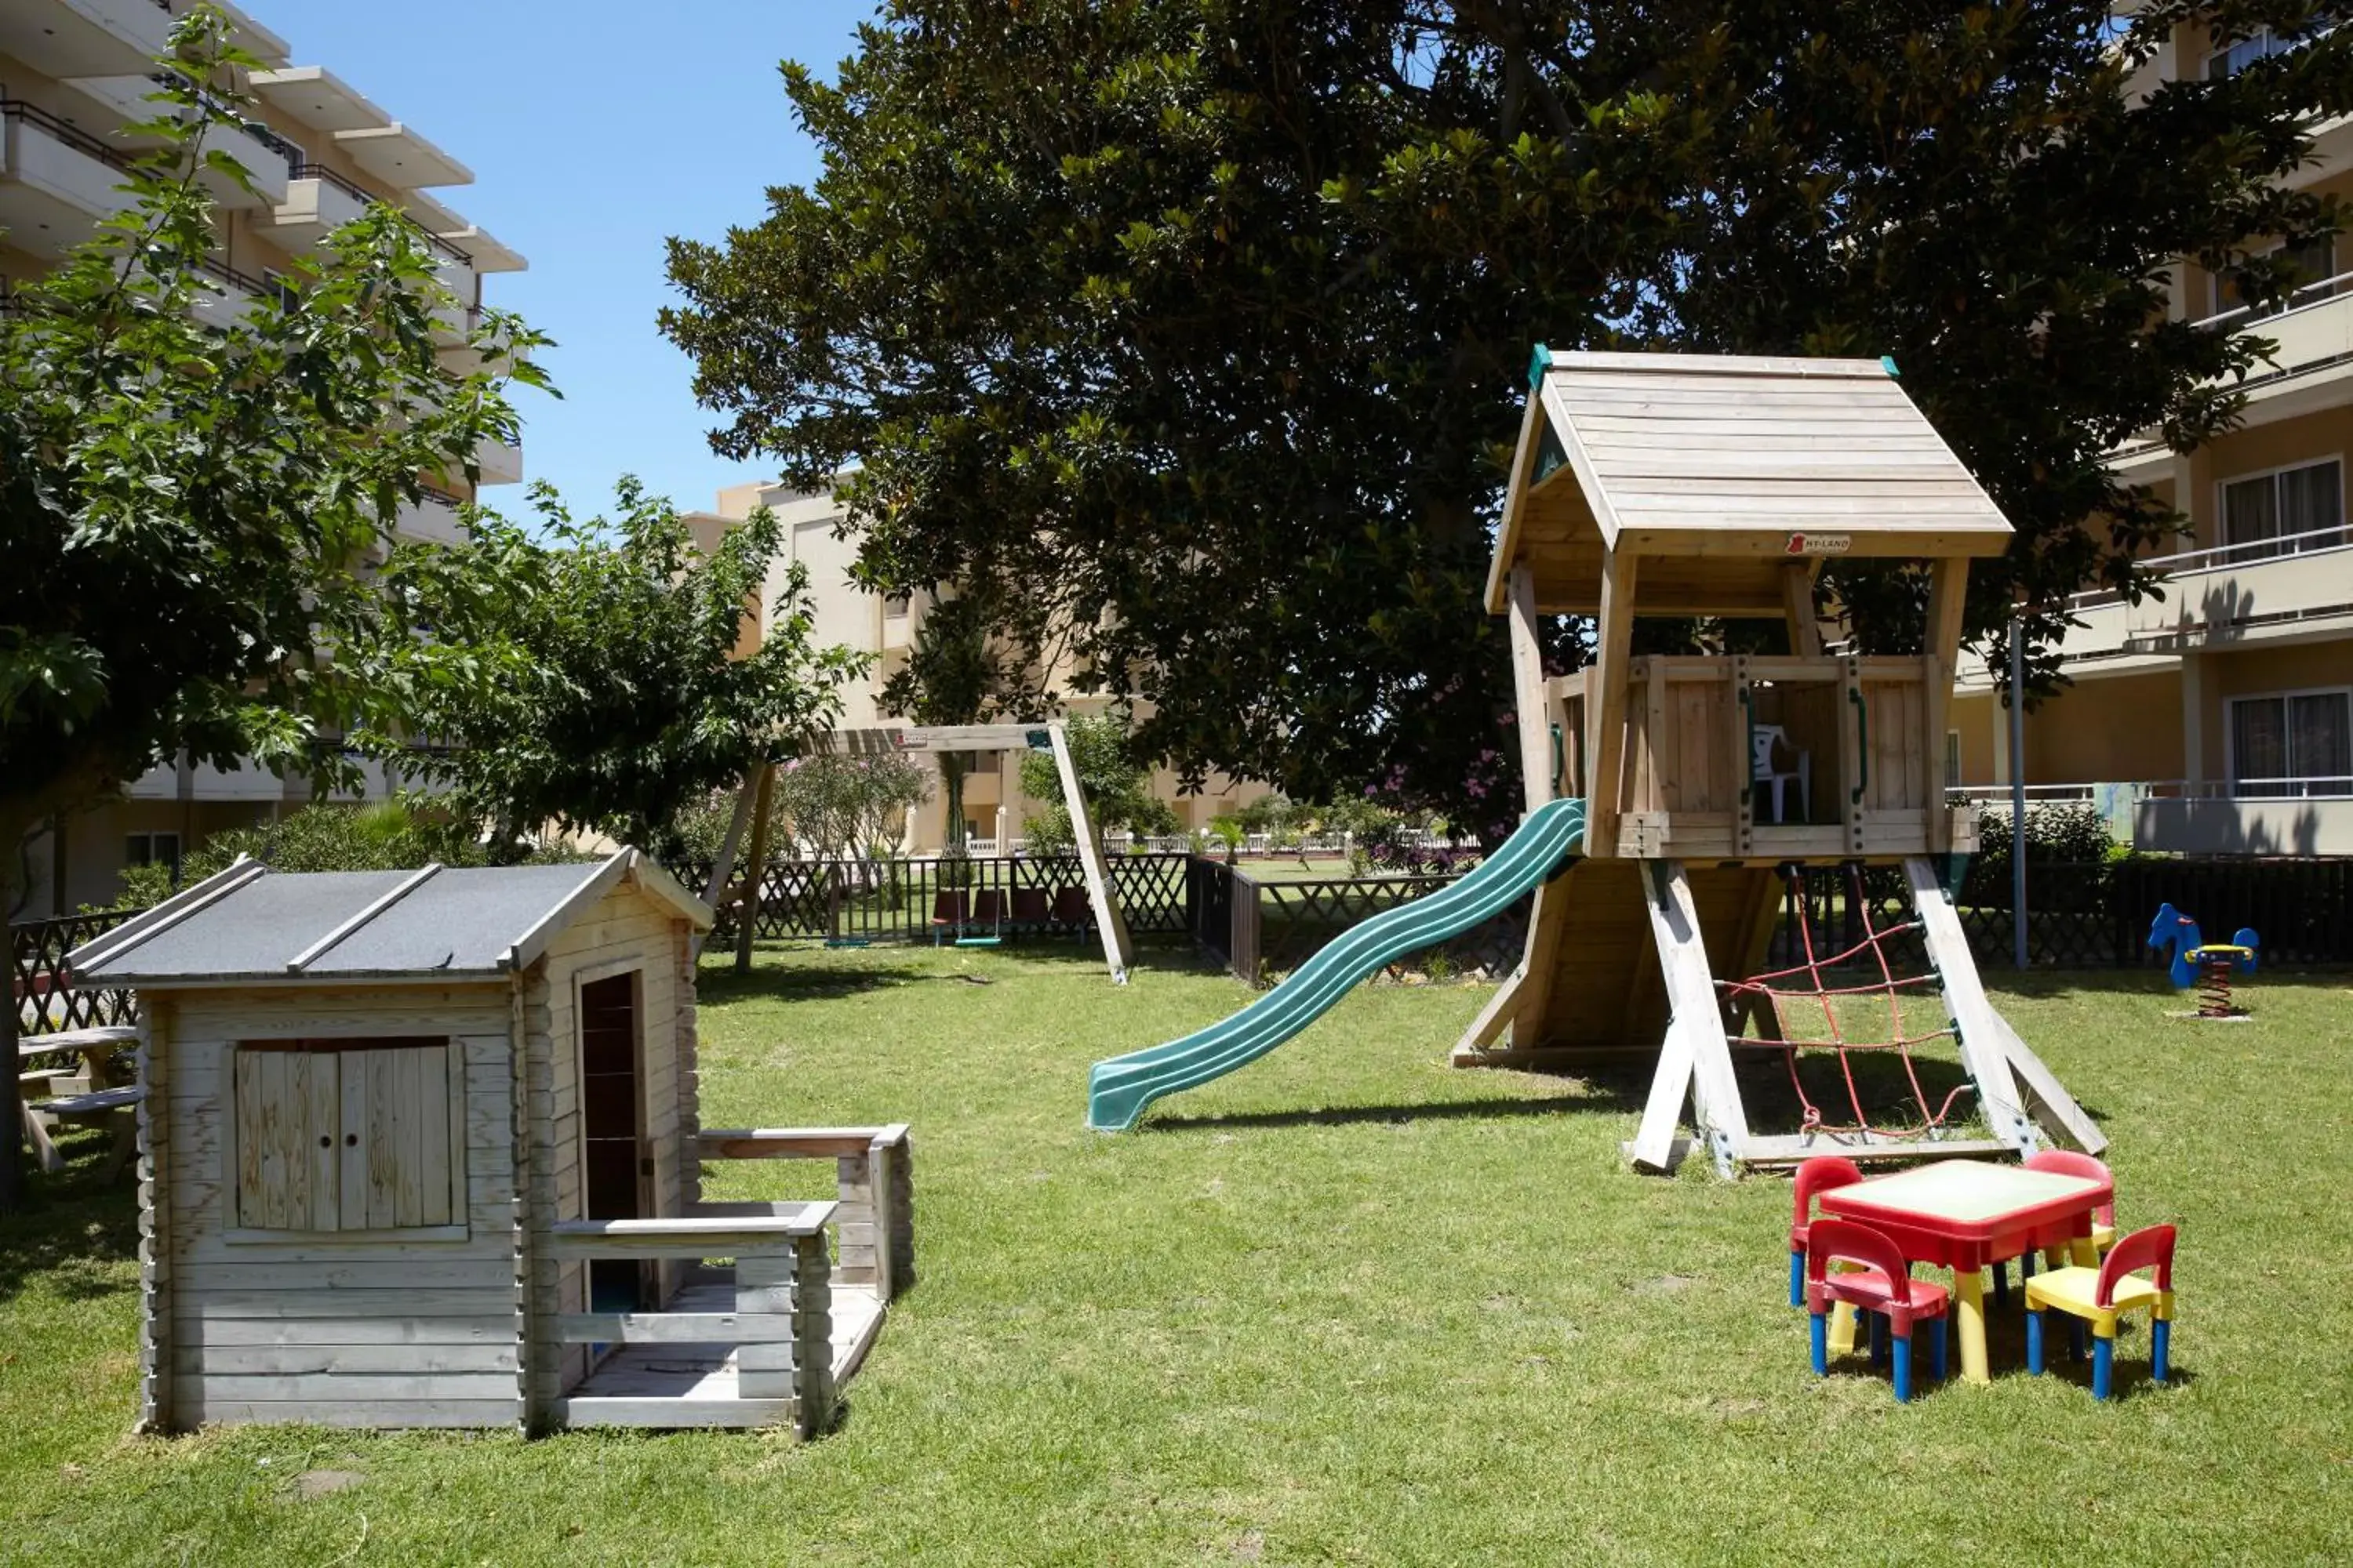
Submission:
[[[1520,893],[1551,882],[1584,837],[1586,802],[1555,799],[1539,806],[1468,877],[1351,926],[1233,1018],[1165,1046],[1096,1063],[1087,1074],[1087,1126],[1125,1133],[1160,1095],[1247,1067],[1332,1011],[1334,1001],[1381,966],[1468,931],[1511,907]]]

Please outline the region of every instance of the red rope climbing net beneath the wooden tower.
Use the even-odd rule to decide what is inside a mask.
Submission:
[[[1845,891],[1849,900],[1849,917],[1859,917],[1861,940],[1842,952],[1821,954],[1814,945],[1814,922],[1809,914],[1809,900],[1795,867],[1784,867],[1781,879],[1791,898],[1788,907],[1795,910],[1798,950],[1805,954],[1800,964],[1788,969],[1772,969],[1746,980],[1718,980],[1725,992],[1725,1001],[1734,1018],[1753,1011],[1755,1004],[1767,1004],[1772,1009],[1774,1034],[1772,1037],[1734,1037],[1734,1044],[1751,1048],[1779,1048],[1781,1060],[1788,1065],[1788,1084],[1798,1095],[1798,1107],[1802,1112],[1802,1131],[1807,1133],[1849,1133],[1868,1138],[1913,1138],[1920,1133],[1934,1133],[1946,1126],[1953,1117],[1955,1103],[1972,1093],[1974,1086],[1962,1079],[1944,1095],[1941,1103],[1929,1105],[1927,1091],[1920,1086],[1920,1067],[1913,1060],[1915,1046],[1927,1046],[1939,1039],[1955,1039],[1951,1023],[1939,1023],[1937,1027],[1913,1030],[1904,1020],[1904,999],[1911,994],[1913,1020],[1927,1011],[1932,1018],[1944,1018],[1944,1001],[1937,990],[1939,980],[1934,973],[1897,976],[1887,950],[1892,943],[1913,938],[1920,933],[1920,922],[1897,922],[1878,924],[1873,919],[1873,900],[1864,889],[1864,872],[1859,865],[1847,865]],[[1866,959],[1868,954],[1868,959]],[[1842,971],[1861,966],[1866,973],[1878,969],[1878,980],[1864,980],[1859,985],[1828,985],[1826,971]],[[1925,997],[1920,992],[1927,992]],[[1847,1018],[1840,1018],[1842,1006]],[[1885,1037],[1864,1039],[1857,1037],[1857,1013],[1868,1013],[1871,1023],[1885,1020]],[[1812,1020],[1821,1018],[1821,1034],[1812,1032]],[[1805,1079],[1798,1072],[1798,1058],[1807,1053],[1828,1053],[1838,1060],[1838,1077],[1847,1091],[1847,1107],[1842,1119],[1831,1119],[1821,1105],[1805,1088]],[[1894,1056],[1904,1065],[1904,1081],[1911,1086],[1911,1105],[1918,1117],[1908,1124],[1889,1124],[1885,1117],[1873,1117],[1864,1107],[1864,1088],[1857,1084],[1854,1058],[1857,1056]]]

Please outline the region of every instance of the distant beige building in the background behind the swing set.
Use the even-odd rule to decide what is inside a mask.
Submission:
[[[842,726],[871,729],[904,724],[904,715],[882,708],[882,684],[906,668],[911,649],[922,635],[927,602],[885,599],[859,588],[849,569],[856,564],[856,541],[838,538],[842,508],[833,496],[812,496],[781,484],[736,484],[718,494],[708,512],[687,512],[687,527],[706,548],[729,527],[751,517],[758,508],[769,508],[784,524],[784,543],[769,564],[767,585],[760,592],[760,616],[767,616],[784,590],[793,564],[809,571],[809,607],[819,646],[845,644],[875,656],[868,679],[842,691]],[[758,630],[746,630],[746,646],[758,646]],[[1064,696],[1064,712],[1096,715],[1108,703],[1096,696]],[[1002,846],[1024,837],[1024,823],[1042,804],[1021,790],[1021,755],[974,755],[965,776],[965,835],[981,846]],[[1176,818],[1188,830],[1202,830],[1209,818],[1235,811],[1268,795],[1266,785],[1242,783],[1212,773],[1200,795],[1184,795],[1176,776],[1160,771],[1153,778],[1155,792],[1176,809]],[[934,853],[946,842],[948,802],[944,790],[915,811],[908,823],[908,851]]]

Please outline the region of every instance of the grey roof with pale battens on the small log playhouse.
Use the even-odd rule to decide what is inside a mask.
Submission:
[[[633,849],[593,865],[426,872],[273,872],[240,860],[75,947],[66,964],[85,985],[492,978],[532,964],[548,936],[624,879],[711,924],[701,900]]]

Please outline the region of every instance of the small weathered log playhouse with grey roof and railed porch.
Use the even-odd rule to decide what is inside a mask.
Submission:
[[[708,924],[635,851],[240,860],[73,952],[141,1001],[141,1425],[826,1429],[913,1284],[908,1138],[701,1126]]]

